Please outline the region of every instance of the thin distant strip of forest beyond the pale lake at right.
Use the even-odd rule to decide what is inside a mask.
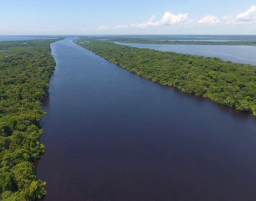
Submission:
[[[100,38],[99,38],[100,39]],[[207,41],[207,40],[168,40],[168,39],[150,39],[150,38],[132,38],[132,37],[104,37],[103,39],[116,41],[120,43],[142,43],[142,44],[163,44],[163,45],[256,45],[256,41]]]

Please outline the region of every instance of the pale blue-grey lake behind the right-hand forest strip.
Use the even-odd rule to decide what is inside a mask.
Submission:
[[[238,63],[256,65],[256,46],[228,45],[158,45],[138,43],[118,43],[138,48],[149,48],[159,51],[171,51],[183,54],[219,57]]]

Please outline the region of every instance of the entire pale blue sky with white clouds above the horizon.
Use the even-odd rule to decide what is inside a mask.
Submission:
[[[0,35],[256,34],[250,0],[1,0]]]

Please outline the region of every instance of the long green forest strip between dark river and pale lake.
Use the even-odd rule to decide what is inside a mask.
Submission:
[[[256,116],[256,67],[80,37],[78,45],[139,76]]]

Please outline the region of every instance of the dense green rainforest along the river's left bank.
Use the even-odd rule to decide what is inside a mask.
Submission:
[[[35,200],[45,182],[34,162],[44,146],[38,141],[43,96],[55,69],[55,40],[0,42],[0,200]]]

